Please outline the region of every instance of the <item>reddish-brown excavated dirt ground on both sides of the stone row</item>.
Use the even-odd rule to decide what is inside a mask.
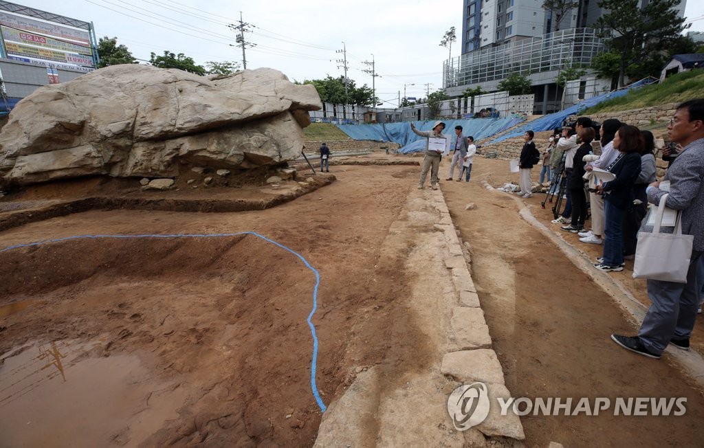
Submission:
[[[256,232],[270,241],[252,233],[76,238],[0,252],[0,446],[313,444],[321,411],[306,319],[316,277],[289,250],[320,273],[312,321],[322,402],[369,366],[398,376],[425,369],[417,360],[434,354],[421,316],[408,313],[413,279],[402,269],[412,248],[394,238],[382,250],[420,171],[389,165],[399,159],[422,160],[334,160],[330,174],[306,186],[251,179],[237,188],[146,193],[135,182],[87,179],[2,198],[0,250],[84,235]],[[512,395],[687,398],[684,416],[523,417],[526,445],[699,445],[704,399],[696,381],[672,354],[656,361],[612,343],[610,333],[637,326],[520,217],[527,205],[549,231],[564,233],[549,223],[542,197],[484,188],[517,176],[505,160],[474,162],[470,184],[441,188],[472,247],[472,276]],[[67,205],[80,199],[93,202]],[[477,207],[466,210],[470,203]],[[601,255],[601,246],[558,236],[585,259]],[[630,267],[610,275],[647,303]],[[693,346],[704,350],[700,321]]]

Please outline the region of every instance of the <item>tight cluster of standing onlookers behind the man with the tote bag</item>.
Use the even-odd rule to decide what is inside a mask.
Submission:
[[[615,119],[605,120],[600,131],[602,151],[594,155],[597,133],[589,117],[579,117],[574,130],[563,129],[553,151],[563,155],[567,201],[553,222],[566,224],[562,230],[578,233],[582,243],[604,245],[596,269],[622,271],[624,260],[635,255],[647,211],[646,187],[655,181],[655,138]],[[586,231],[589,211],[591,230]]]

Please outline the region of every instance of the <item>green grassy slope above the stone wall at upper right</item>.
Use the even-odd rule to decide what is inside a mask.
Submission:
[[[660,84],[633,89],[624,96],[603,101],[581,115],[647,108],[665,103],[680,103],[704,98],[704,70],[691,70],[668,77]]]

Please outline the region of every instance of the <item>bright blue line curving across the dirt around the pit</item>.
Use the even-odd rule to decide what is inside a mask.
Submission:
[[[260,235],[259,233],[256,232],[238,232],[238,233],[176,233],[173,235],[78,235],[78,236],[66,236],[65,238],[55,238],[51,240],[44,240],[44,241],[39,241],[37,243],[27,243],[27,244],[17,244],[17,245],[11,245],[7,248],[0,249],[0,253],[6,252],[8,250],[13,250],[17,248],[27,248],[27,247],[32,247],[32,246],[37,246],[45,243],[58,243],[59,241],[69,241],[69,240],[77,240],[80,238],[210,238],[213,236],[239,236],[239,235],[253,235],[256,236],[257,238],[261,238],[264,241],[268,241],[269,243],[272,243],[273,245],[279,246],[279,248],[282,248],[284,250],[288,250],[292,254],[296,255],[299,260],[303,262],[303,264],[306,264],[306,267],[313,271],[315,274],[315,288],[313,288],[313,309],[310,310],[310,314],[308,314],[308,326],[310,327],[310,333],[313,335],[313,361],[311,362],[310,365],[310,388],[313,390],[313,397],[315,397],[315,401],[318,402],[318,407],[320,407],[320,410],[325,412],[327,410],[327,407],[325,407],[325,404],[322,402],[322,399],[320,398],[320,394],[318,393],[318,386],[315,385],[315,370],[317,369],[318,366],[318,336],[315,335],[315,326],[313,325],[313,322],[310,319],[313,319],[313,314],[315,314],[315,310],[318,309],[318,286],[320,286],[320,274],[318,273],[318,270],[316,270],[313,266],[308,263],[308,260],[303,258],[303,255],[299,254],[298,252],[295,252],[294,250],[291,250],[287,248],[285,245],[282,245],[280,243],[277,243],[276,241],[272,241],[269,238],[266,238],[265,236]]]

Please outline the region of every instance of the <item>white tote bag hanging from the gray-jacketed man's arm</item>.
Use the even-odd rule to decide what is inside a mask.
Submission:
[[[682,235],[681,212],[677,213],[674,233],[660,233],[667,196],[664,195],[660,198],[653,233],[638,233],[636,260],[633,264],[634,279],[687,283],[687,271],[689,270],[694,236]]]

